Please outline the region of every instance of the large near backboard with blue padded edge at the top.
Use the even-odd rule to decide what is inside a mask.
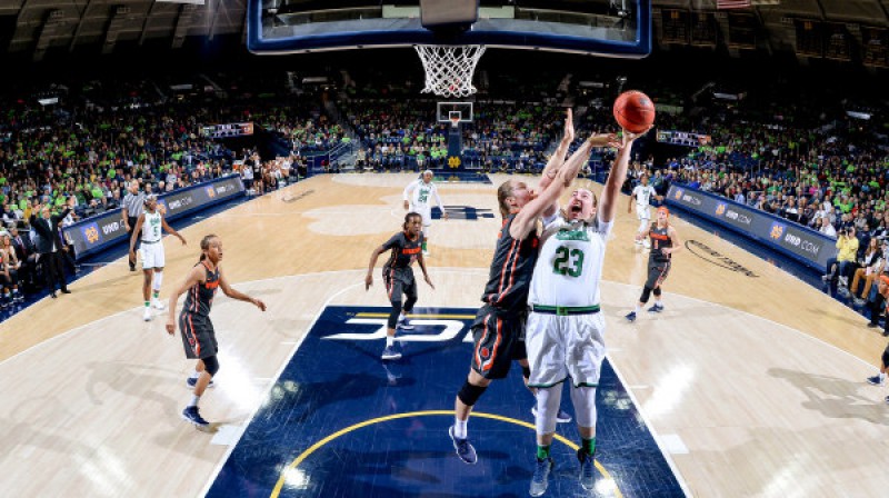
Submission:
[[[650,0],[480,0],[477,20],[446,40],[423,28],[420,0],[248,0],[247,18],[247,47],[261,54],[417,44],[636,59],[651,51]]]

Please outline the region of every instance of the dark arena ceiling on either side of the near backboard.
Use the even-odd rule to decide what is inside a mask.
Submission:
[[[186,1],[186,0],[179,0]],[[182,47],[190,38],[234,36],[244,39],[247,0],[0,0],[0,50],[43,59],[47,51],[86,48],[111,53],[130,46]],[[286,1],[286,0],[284,0]],[[508,0],[521,4],[522,0]],[[621,2],[622,0],[612,0]],[[629,0],[628,0],[629,1]],[[353,1],[349,2],[353,4]],[[378,6],[386,1],[368,0]],[[663,9],[716,11],[717,0],[653,0],[655,42],[662,43]],[[889,0],[752,0],[762,33],[758,48],[796,50],[793,19],[805,18],[850,26],[889,27]],[[324,2],[336,8],[336,0]],[[736,12],[736,11],[732,11]],[[720,30],[727,29],[718,16]],[[850,30],[855,36],[856,31]],[[859,40],[860,41],[860,40]],[[731,51],[731,50],[730,50]]]

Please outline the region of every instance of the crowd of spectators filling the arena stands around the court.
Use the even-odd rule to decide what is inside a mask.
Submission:
[[[561,74],[525,86],[508,76],[489,78],[490,84],[475,99],[473,122],[461,126],[462,157],[472,168],[539,171],[561,129],[566,102],[575,109],[580,138],[615,128],[609,93],[615,89],[580,98],[568,79],[560,82]],[[263,193],[304,176],[308,157],[349,145],[350,137],[356,139],[359,170],[446,166],[450,123],[437,122],[433,98],[416,97],[418,81],[364,82],[359,91],[321,98],[287,90],[287,78],[278,73],[212,79],[212,84],[169,74],[153,82],[89,81],[69,86],[77,89],[66,89],[57,106],[20,103],[8,109],[0,116],[3,226],[27,229],[38,203],[61,207],[70,196],[76,206],[68,223],[116,209],[126,186],[137,179],[146,191],[166,192],[239,171],[251,192]],[[193,90],[166,91],[162,97],[156,91],[180,87],[176,83],[183,80]],[[807,98],[822,96],[805,93],[792,99],[751,96],[745,106],[692,104],[682,97],[691,93],[690,87],[658,82],[650,88],[656,101],[685,108],[659,112],[660,129],[711,137],[709,143],[672,159],[637,158],[659,193],[670,182],[682,182],[830,236],[855,227],[861,237],[857,261],[866,256],[865,237],[889,237],[886,136],[862,130],[836,110],[839,106],[812,104]],[[812,109],[822,114],[829,109],[829,116]],[[250,148],[230,150],[201,133],[202,124],[240,121],[252,121],[259,132],[273,138],[272,153],[263,152],[273,159],[262,160]],[[647,141],[655,146],[653,133]],[[597,152],[588,172],[607,167],[607,153]],[[837,279],[843,277],[840,281],[860,297],[868,291],[852,289],[860,287],[852,283],[859,268],[865,266],[843,266]]]

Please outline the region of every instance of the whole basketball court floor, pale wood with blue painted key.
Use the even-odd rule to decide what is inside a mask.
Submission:
[[[212,434],[180,419],[192,362],[162,313],[141,321],[141,276],[126,265],[6,322],[3,495],[525,496],[533,418],[518,371],[470,420],[477,466],[458,461],[447,435],[499,216],[433,222],[436,290],[421,283],[417,330],[399,332],[403,358],[379,359],[387,300],[379,278],[364,290],[363,275],[373,248],[400,229],[401,189],[413,178],[311,178],[188,227],[188,247],[166,242],[164,296],[212,232],[229,280],[269,305],[261,313],[217,299],[221,370],[201,404]],[[441,197],[497,212],[508,178],[442,183]],[[648,256],[632,243],[635,217],[619,211],[602,283],[597,496],[878,496],[887,392],[863,379],[885,339],[681,218],[687,248],[721,257],[677,253],[667,311],[628,323]],[[547,496],[580,494],[576,430],[559,427],[567,439]]]

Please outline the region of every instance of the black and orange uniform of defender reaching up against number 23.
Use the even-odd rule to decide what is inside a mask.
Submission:
[[[510,215],[500,229],[481,297],[485,306],[472,323],[472,369],[487,379],[502,379],[512,360],[528,357],[523,341],[525,319],[540,240],[537,232],[522,240],[513,239],[509,227],[515,219],[516,215]]]

